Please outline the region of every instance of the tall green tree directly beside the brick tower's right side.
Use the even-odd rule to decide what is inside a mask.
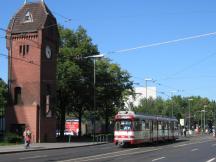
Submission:
[[[59,27],[60,53],[57,62],[58,78],[58,116],[61,119],[61,136],[64,133],[65,114],[73,112],[80,120],[88,103],[92,100],[89,93],[92,92],[91,60],[82,58],[98,54],[97,47],[88,37],[86,30],[79,27],[75,32]],[[88,96],[88,97],[87,97]],[[79,132],[81,135],[81,132]]]

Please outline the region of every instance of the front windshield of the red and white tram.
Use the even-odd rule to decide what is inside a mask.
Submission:
[[[115,123],[115,130],[117,131],[129,131],[132,129],[131,120],[117,120]]]

